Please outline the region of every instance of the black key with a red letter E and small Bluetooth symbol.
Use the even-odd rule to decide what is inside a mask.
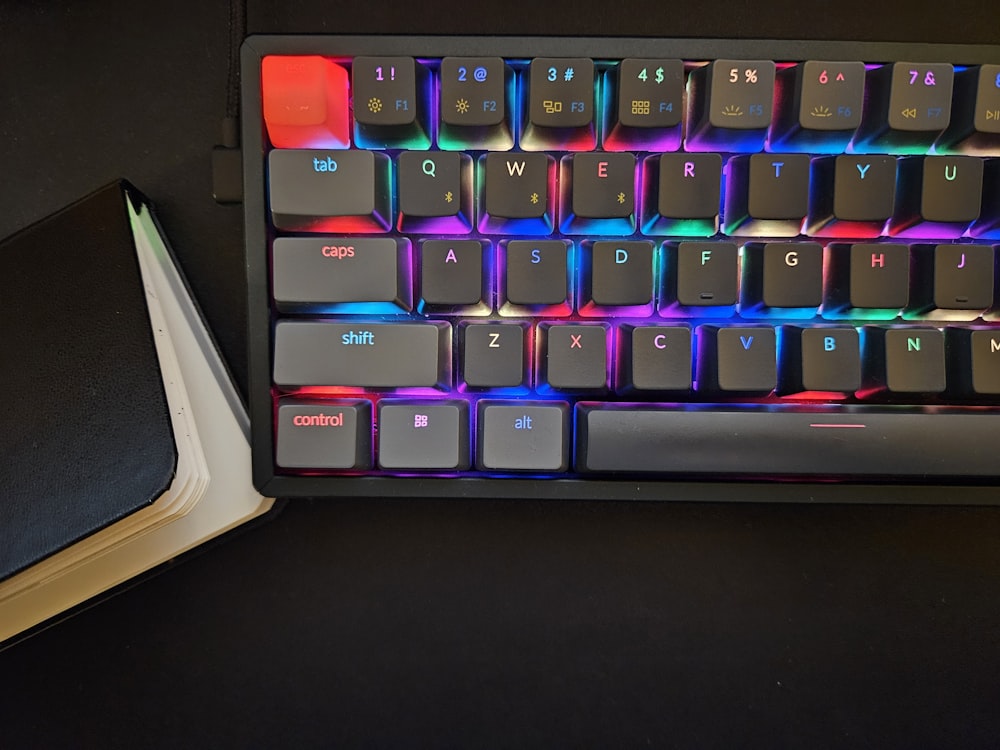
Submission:
[[[562,160],[562,231],[632,234],[635,230],[635,156],[574,154]]]

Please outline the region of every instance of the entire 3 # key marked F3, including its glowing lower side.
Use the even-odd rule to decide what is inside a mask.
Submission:
[[[596,145],[594,61],[536,57],[531,61],[525,151],[589,151]]]

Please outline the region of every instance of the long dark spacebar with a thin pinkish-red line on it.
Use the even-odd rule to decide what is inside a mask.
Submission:
[[[1000,415],[577,406],[581,472],[994,477]]]

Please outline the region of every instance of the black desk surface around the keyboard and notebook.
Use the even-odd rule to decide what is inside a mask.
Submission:
[[[249,27],[1000,42],[993,0],[819,6],[327,0]],[[0,236],[132,179],[245,388],[240,208],[208,166],[227,19],[0,7]],[[0,747],[995,747],[998,622],[1000,508],[296,502],[0,653]]]

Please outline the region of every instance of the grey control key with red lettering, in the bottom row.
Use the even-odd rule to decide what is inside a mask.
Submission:
[[[286,469],[370,469],[370,401],[282,399],[276,462]]]

